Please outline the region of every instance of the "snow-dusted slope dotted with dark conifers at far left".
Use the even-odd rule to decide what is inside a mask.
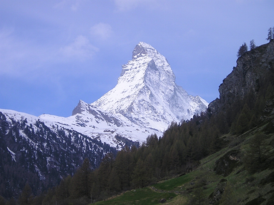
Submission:
[[[73,175],[86,157],[98,167],[108,152],[116,149],[60,123],[0,109],[1,196],[16,197],[26,182],[41,192]]]

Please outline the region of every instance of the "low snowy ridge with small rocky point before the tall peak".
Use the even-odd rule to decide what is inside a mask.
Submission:
[[[157,130],[138,126],[121,114],[112,114],[81,100],[72,114],[67,118],[43,114],[39,118],[46,122],[59,124],[66,129],[76,130],[118,149],[125,145],[138,147],[148,135],[156,133],[160,136],[162,134]]]

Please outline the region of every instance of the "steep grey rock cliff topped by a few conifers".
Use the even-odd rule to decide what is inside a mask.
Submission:
[[[225,104],[231,104],[235,99],[243,99],[249,92],[257,93],[272,73],[274,73],[273,39],[267,44],[245,52],[237,59],[236,67],[233,67],[233,71],[219,86],[220,98],[209,103],[208,111],[219,112]]]

